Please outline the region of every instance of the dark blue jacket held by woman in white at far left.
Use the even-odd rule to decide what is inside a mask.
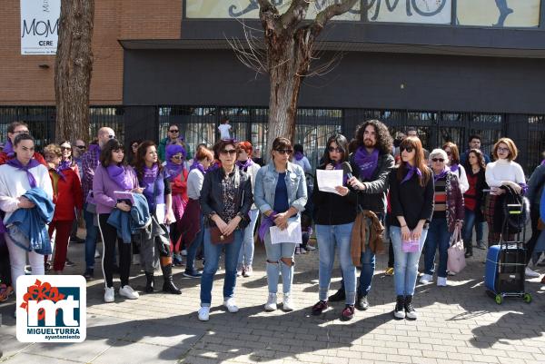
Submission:
[[[5,221],[7,233],[15,244],[26,251],[38,254],[51,254],[51,241],[46,224],[53,220],[54,203],[47,193],[39,187],[28,190],[23,195],[35,203],[32,209],[18,209]]]

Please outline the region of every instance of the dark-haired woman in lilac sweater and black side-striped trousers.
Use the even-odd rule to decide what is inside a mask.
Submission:
[[[119,294],[129,300],[136,300],[138,292],[129,286],[129,272],[131,269],[131,244],[124,243],[117,237],[117,230],[107,221],[114,209],[124,212],[131,211],[126,202],[118,202],[114,192],[137,192],[143,189],[138,187],[138,178],[133,167],[126,165],[124,146],[116,139],[110,139],[100,153],[100,164],[96,167],[93,177],[93,194],[98,214],[98,230],[104,243],[103,272],[104,272],[104,302],[114,302],[114,251],[117,243],[119,253],[119,274],[121,289]]]

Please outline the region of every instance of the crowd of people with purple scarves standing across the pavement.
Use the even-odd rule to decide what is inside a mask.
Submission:
[[[328,139],[309,185],[305,173],[312,167],[301,145],[278,137],[269,162],[263,163],[253,158],[252,143],[233,140],[230,130],[225,119],[217,143],[200,144],[190,152],[178,125],[171,124],[161,143],[132,141],[125,152],[114,130],[103,127],[88,146],[83,140],[52,143],[42,156],[35,152],[25,123],[9,125],[0,152],[0,300],[7,299],[25,273],[62,274],[74,264],[67,252],[69,242],[79,240],[75,231],[80,218],[86,231],[83,275],[98,278],[95,259],[101,256],[104,302],[113,302],[116,293],[139,298],[130,281],[134,261],[144,271],[144,293],[157,290],[154,275],[160,269],[161,290],[181,294],[173,266],[185,256],[183,276],[201,280],[199,320],[209,320],[223,252],[223,306],[239,310],[236,281],[253,274],[255,236],[266,251],[264,310],[278,310],[279,305],[295,310],[295,254],[315,231],[319,290],[312,315],[322,314],[330,301],[344,300],[342,320],[369,308],[376,254],[386,251],[383,238],[390,239],[386,274],[394,276],[393,316],[416,320],[413,297],[419,275],[421,284],[437,276],[437,286],[448,285],[453,274],[447,269],[448,249],[455,234],[463,237],[467,259],[473,256],[473,230],[476,248],[497,244],[503,232],[500,204],[508,193],[529,201],[532,234],[526,264],[536,264],[545,251],[545,161],[527,183],[515,162],[519,151],[509,138],[494,144],[490,162],[479,135],[471,135],[462,153],[451,142],[428,152],[416,129],[394,141],[384,123],[370,120],[357,127],[352,140],[339,133]],[[335,170],[342,172],[342,183],[326,192],[318,172]],[[484,223],[488,244],[483,242]],[[97,241],[103,243],[102,254]],[[330,296],[335,255],[342,281]],[[202,271],[195,265],[200,258]],[[528,266],[525,273],[539,277]],[[118,290],[114,275],[121,280]]]

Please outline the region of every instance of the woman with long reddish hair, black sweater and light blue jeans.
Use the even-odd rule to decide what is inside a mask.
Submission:
[[[396,319],[416,320],[412,296],[418,274],[418,261],[433,214],[432,172],[424,162],[420,139],[408,137],[400,144],[401,164],[390,173],[390,239],[394,254]],[[413,252],[405,247],[418,243]]]

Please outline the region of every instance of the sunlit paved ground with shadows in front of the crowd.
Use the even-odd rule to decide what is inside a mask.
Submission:
[[[81,273],[83,244],[70,247],[77,262],[68,273]],[[297,310],[266,313],[263,247],[256,252],[255,274],[237,280],[241,310],[223,310],[223,271],[213,287],[210,321],[197,320],[200,280],[185,279],[175,269],[182,296],[161,293],[139,300],[103,303],[102,280],[89,283],[87,339],[80,344],[24,344],[15,339],[14,300],[0,304],[3,315],[0,349],[7,364],[30,363],[544,363],[545,286],[528,280],[530,304],[511,299],[497,305],[482,286],[484,251],[476,250],[468,268],[449,280],[449,287],[418,286],[419,320],[393,320],[393,281],[385,277],[380,256],[373,280],[372,308],[342,322],[342,304],[321,317],[310,315],[318,298],[318,253],[296,258],[294,299]],[[78,257],[80,259],[78,259]],[[99,261],[97,261],[98,263]],[[541,274],[545,269],[541,268]],[[133,287],[144,277],[134,266]],[[338,271],[336,273],[338,275]],[[116,282],[116,284],[118,284]],[[332,287],[337,288],[338,279]]]

